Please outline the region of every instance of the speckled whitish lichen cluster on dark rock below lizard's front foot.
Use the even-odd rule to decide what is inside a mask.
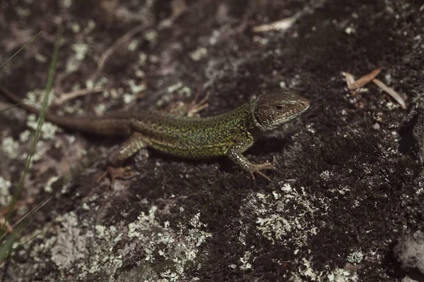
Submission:
[[[317,206],[320,208],[323,202],[311,197],[305,188],[294,187],[289,183],[280,183],[279,190],[269,192],[252,193],[246,197],[245,203],[240,207],[240,214],[254,214],[257,218],[257,235],[271,241],[272,245],[290,245],[293,254],[297,255],[302,247],[305,247],[310,237],[317,234],[318,226],[314,226],[314,217],[317,213]],[[323,215],[323,214],[321,214]],[[244,228],[245,224],[240,222],[240,228]],[[240,231],[240,235],[244,232]],[[294,235],[295,234],[295,235]],[[254,246],[240,240],[246,248],[253,253]],[[255,250],[257,251],[257,250]],[[252,268],[254,271],[254,259],[250,252],[246,252],[239,259],[241,270]],[[276,263],[284,266],[286,262],[283,260]],[[314,281],[318,277],[322,277],[324,273],[316,274],[310,268],[310,262],[306,260],[295,259],[294,264],[302,265],[298,272],[293,272],[290,278],[293,281],[304,281],[305,278]],[[302,280],[303,279],[303,280]]]

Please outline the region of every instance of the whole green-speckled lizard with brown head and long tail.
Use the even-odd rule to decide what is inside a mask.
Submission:
[[[21,99],[11,91],[0,91],[13,102]],[[26,111],[40,114],[38,109],[19,104]],[[95,135],[126,137],[124,144],[110,155],[107,173],[111,183],[125,178],[126,159],[140,149],[149,147],[165,154],[189,159],[227,156],[238,167],[269,180],[261,171],[276,169],[271,164],[252,164],[242,153],[266,132],[300,116],[309,108],[307,99],[288,90],[262,94],[227,114],[206,118],[176,116],[162,111],[116,113],[100,117],[71,118],[46,113],[45,119],[68,130]]]

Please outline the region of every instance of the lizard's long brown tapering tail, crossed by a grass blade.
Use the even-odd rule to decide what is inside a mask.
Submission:
[[[25,102],[18,97],[16,94],[0,86],[0,92],[11,99],[12,102],[16,103],[16,106],[28,111],[31,114],[40,116],[40,110],[33,106],[25,104]],[[103,121],[101,118],[68,118],[57,116],[55,114],[45,113],[45,120],[50,123],[54,123],[61,128],[68,130],[81,131],[83,133],[95,134],[95,135],[130,135],[131,130],[129,125],[125,121]]]

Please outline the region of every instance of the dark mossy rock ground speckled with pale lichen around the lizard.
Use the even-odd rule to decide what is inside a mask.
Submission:
[[[61,32],[57,114],[163,109],[201,90],[211,116],[281,87],[311,106],[247,151],[278,168],[271,183],[224,157],[142,150],[110,189],[96,178],[122,140],[46,123],[21,195],[34,201],[11,223],[48,200],[1,281],[424,281],[422,1],[4,0],[0,61],[40,30],[0,84],[40,104]],[[343,72],[376,68],[406,109],[372,82],[348,90]],[[34,127],[0,114],[2,206]]]

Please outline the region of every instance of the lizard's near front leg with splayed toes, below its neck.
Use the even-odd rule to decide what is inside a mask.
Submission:
[[[230,147],[227,152],[227,156],[233,163],[242,168],[243,171],[249,173],[252,177],[252,180],[254,180],[254,173],[257,173],[259,176],[271,181],[271,179],[269,179],[269,177],[261,171],[276,170],[275,166],[272,166],[271,164],[252,164],[242,154],[253,145],[253,142],[254,138],[247,132],[241,135],[237,135],[234,145],[232,145],[232,147]]]

